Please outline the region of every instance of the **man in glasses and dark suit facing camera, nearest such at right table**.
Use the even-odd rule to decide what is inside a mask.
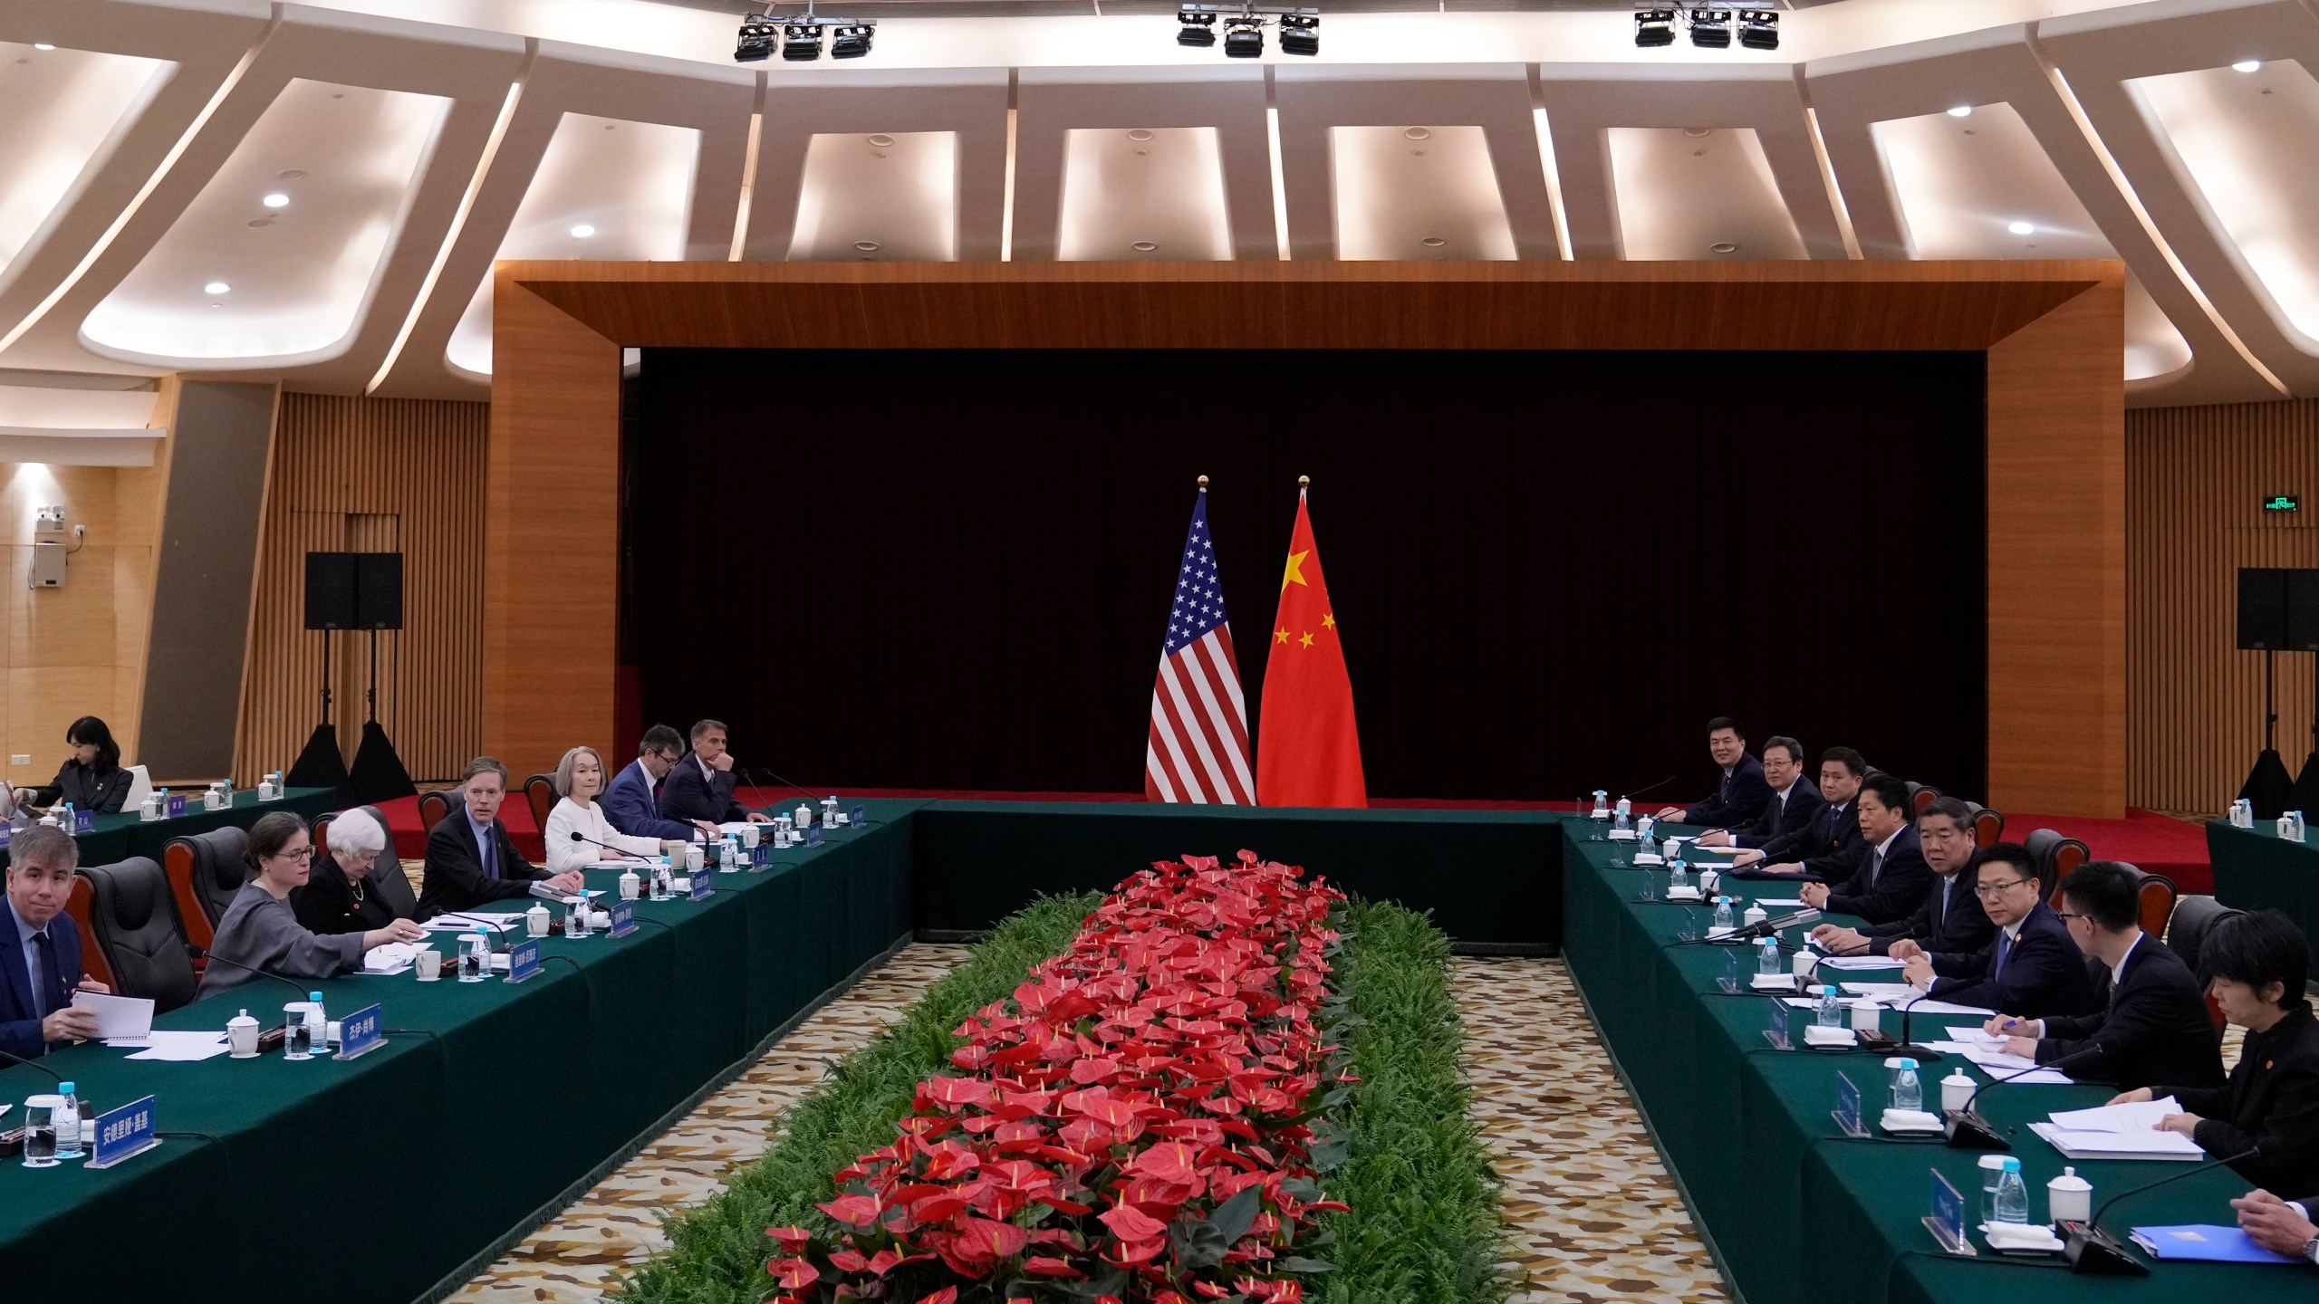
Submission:
[[[1999,842],[1973,868],[1973,893],[1997,935],[1978,951],[1918,951],[1906,956],[1906,977],[1934,1000],[2011,1009],[2027,1019],[2092,1014],[2094,981],[2085,956],[2069,940],[2069,926],[2045,905],[2036,859],[2020,842]]]

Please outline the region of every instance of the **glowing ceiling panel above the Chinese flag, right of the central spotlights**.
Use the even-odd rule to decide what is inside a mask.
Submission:
[[[1482,128],[1329,128],[1338,258],[1514,258]]]

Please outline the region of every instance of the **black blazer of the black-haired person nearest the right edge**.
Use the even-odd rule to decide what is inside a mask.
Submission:
[[[2127,977],[2133,965],[2127,965]],[[2152,1086],[2198,1116],[2191,1139],[2215,1156],[2261,1142],[2263,1153],[2231,1165],[2263,1190],[2319,1190],[2319,1023],[2310,1002],[2268,1033],[2247,1033],[2226,1086]]]

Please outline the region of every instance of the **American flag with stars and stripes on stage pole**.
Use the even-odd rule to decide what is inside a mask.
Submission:
[[[1231,659],[1231,622],[1215,582],[1208,490],[1192,506],[1192,534],[1176,571],[1176,606],[1153,684],[1153,731],[1143,745],[1143,796],[1204,805],[1255,805],[1248,773],[1248,703]]]

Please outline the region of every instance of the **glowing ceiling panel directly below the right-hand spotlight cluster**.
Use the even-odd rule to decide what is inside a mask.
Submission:
[[[1807,258],[1755,128],[1612,128],[1626,258]]]

